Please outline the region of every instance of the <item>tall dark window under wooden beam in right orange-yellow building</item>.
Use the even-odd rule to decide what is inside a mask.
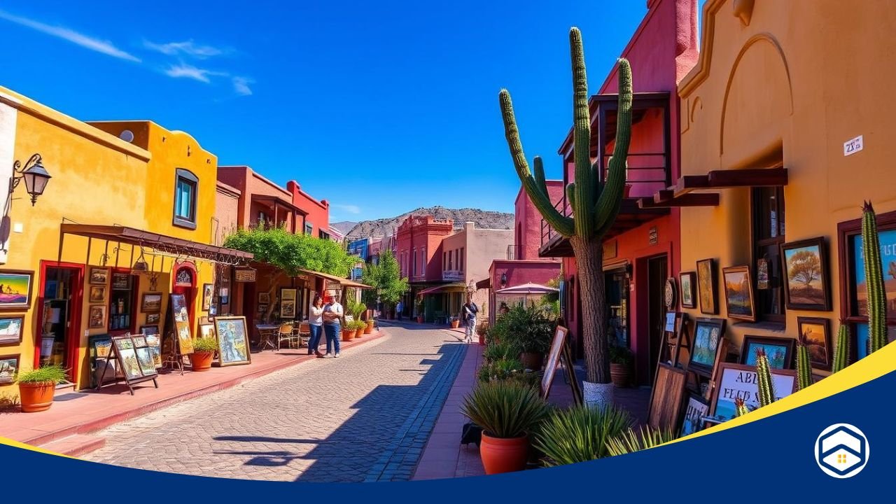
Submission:
[[[784,188],[754,187],[753,191],[753,263],[758,270],[761,260],[768,267],[768,288],[756,285],[756,318],[784,324],[784,285],[780,246],[784,243]]]

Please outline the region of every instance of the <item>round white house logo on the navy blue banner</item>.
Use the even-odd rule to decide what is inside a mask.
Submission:
[[[849,423],[835,423],[815,439],[815,462],[825,474],[834,478],[859,474],[865,469],[870,455],[865,434]]]

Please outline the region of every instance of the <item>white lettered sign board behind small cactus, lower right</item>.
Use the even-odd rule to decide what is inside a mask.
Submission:
[[[716,387],[712,388],[710,414],[728,421],[735,417],[734,400],[740,397],[746,409],[753,411],[759,407],[759,386],[757,385],[755,366],[719,363],[716,373]],[[797,391],[797,371],[793,369],[772,369],[771,381],[774,383],[775,400],[787,397]]]

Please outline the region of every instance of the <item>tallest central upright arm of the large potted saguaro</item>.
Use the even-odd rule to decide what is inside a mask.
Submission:
[[[573,60],[573,162],[575,181],[573,192],[573,222],[576,234],[583,239],[594,236],[596,227],[591,208],[594,206],[594,178],[591,169],[591,114],[588,108],[588,76],[585,73],[585,50],[582,32],[569,30],[570,56]]]

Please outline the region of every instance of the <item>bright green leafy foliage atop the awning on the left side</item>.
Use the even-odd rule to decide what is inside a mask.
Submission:
[[[347,277],[358,260],[330,239],[265,226],[237,230],[224,239],[224,247],[249,252],[256,261],[277,266],[289,276],[306,269]]]

